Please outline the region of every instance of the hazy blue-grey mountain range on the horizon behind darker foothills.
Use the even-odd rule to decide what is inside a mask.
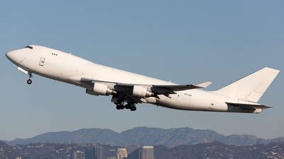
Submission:
[[[113,146],[145,146],[163,145],[173,148],[180,145],[195,145],[219,141],[227,145],[249,146],[259,143],[284,142],[283,138],[259,139],[251,135],[224,136],[212,130],[192,129],[160,129],[136,127],[118,133],[111,129],[79,129],[77,131],[58,131],[40,134],[30,139],[5,141],[9,145],[28,143],[100,143]]]

